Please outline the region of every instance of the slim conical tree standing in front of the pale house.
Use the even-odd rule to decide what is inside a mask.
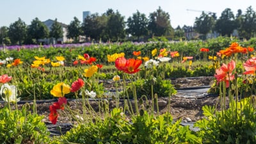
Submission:
[[[58,38],[63,37],[63,31],[60,22],[57,21],[57,19],[54,20],[52,26],[51,26],[51,31],[50,31],[50,36],[52,38],[55,38],[56,42]]]

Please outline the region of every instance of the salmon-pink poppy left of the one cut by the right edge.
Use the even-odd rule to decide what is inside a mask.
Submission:
[[[218,69],[216,69],[216,74],[214,77],[216,77],[218,83],[221,81],[225,81],[226,83],[226,88],[229,86],[229,81],[232,81],[235,77],[232,75],[232,71],[236,68],[236,62],[235,61],[230,61],[228,65],[225,63],[222,64],[222,66]]]

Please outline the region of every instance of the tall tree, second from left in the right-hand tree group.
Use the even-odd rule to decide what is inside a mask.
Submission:
[[[236,28],[235,16],[230,8],[226,8],[221,13],[220,19],[216,21],[215,30],[223,36],[230,36]]]

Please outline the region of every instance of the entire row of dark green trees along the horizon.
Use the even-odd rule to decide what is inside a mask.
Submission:
[[[159,7],[155,12],[149,14],[148,18],[138,10],[131,17],[124,20],[117,10],[107,10],[102,15],[93,13],[88,15],[83,22],[76,17],[67,26],[67,37],[78,42],[79,36],[86,36],[95,41],[124,41],[124,40],[147,40],[154,36],[165,36],[168,39],[178,40],[184,38],[189,26],[178,26],[173,29],[169,13]],[[217,19],[216,13],[202,12],[200,17],[195,18],[193,26],[196,32],[202,34],[205,39],[207,33],[216,31],[222,36],[230,36],[234,30],[241,38],[249,39],[256,33],[256,13],[249,6],[245,13],[237,10],[236,16],[230,8],[226,8]],[[10,24],[9,27],[0,28],[1,44],[38,44],[41,38],[58,39],[63,36],[60,22],[57,19],[52,24],[51,31],[38,18],[31,21],[27,26],[20,18]]]

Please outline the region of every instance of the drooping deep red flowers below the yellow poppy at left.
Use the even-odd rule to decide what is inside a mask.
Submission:
[[[52,122],[52,124],[56,124],[58,120],[58,109],[64,110],[65,104],[67,104],[67,99],[65,97],[60,97],[58,99],[58,102],[54,102],[49,108],[50,108],[50,115],[49,120]]]

